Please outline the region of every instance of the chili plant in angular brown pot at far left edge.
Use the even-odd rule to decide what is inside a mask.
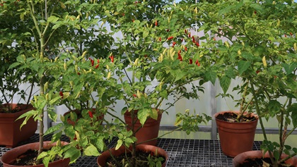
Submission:
[[[31,47],[28,44],[30,36],[24,30],[25,23],[7,11],[7,4],[0,8],[0,145],[16,147],[18,142],[27,140],[37,129],[37,122],[33,118],[22,129],[23,120],[16,120],[33,109],[30,100],[36,91],[33,89],[36,80],[30,70],[10,68],[18,56],[30,54],[25,53],[25,50]]]

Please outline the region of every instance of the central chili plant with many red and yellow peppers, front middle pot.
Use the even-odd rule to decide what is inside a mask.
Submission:
[[[158,113],[167,112],[167,108],[178,99],[197,99],[198,92],[203,91],[204,82],[215,82],[216,68],[212,66],[210,50],[215,48],[216,42],[209,40],[207,34],[200,38],[206,40],[201,43],[190,35],[188,29],[194,23],[190,18],[198,18],[201,14],[195,6],[189,8],[187,4],[161,3],[163,8],[146,8],[153,6],[153,2],[146,1],[105,1],[104,4],[104,22],[111,25],[113,33],[121,35],[115,40],[112,52],[105,56],[105,61],[111,62],[108,66],[110,75],[107,76],[116,81],[115,91],[120,93],[118,98],[125,105],[121,113],[129,113],[132,123],[129,125],[115,113],[107,111],[113,119],[105,126],[96,126],[93,124],[95,117],[85,114],[73,129],[69,128],[69,133],[75,134],[73,142],[78,146],[80,141],[91,142],[83,147],[86,149],[83,152],[95,156],[107,149],[103,140],[118,137],[115,149],[132,145],[132,161],[129,163],[134,166],[136,145],[158,137],[138,140],[137,132],[145,126],[148,118],[158,119]],[[189,90],[186,85],[190,87]],[[163,104],[161,108],[168,97],[173,97],[175,101]],[[190,113],[189,116],[191,118]],[[209,119],[193,117],[191,121],[196,130],[197,123]],[[141,125],[139,128],[135,128],[137,121]],[[191,121],[187,122],[188,125],[191,125]],[[76,152],[76,155],[80,155],[80,150]]]

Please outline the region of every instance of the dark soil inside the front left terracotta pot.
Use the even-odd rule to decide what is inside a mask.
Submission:
[[[45,151],[47,151],[47,150],[45,150]],[[35,166],[35,165],[37,165],[36,164],[37,156],[38,156],[37,150],[29,149],[28,151],[25,151],[25,153],[19,155],[15,161],[13,161],[9,164],[13,165],[13,166]],[[61,158],[59,156],[56,156],[54,161],[58,161],[60,159]]]

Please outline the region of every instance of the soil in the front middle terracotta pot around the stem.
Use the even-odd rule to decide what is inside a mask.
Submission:
[[[153,153],[151,153],[152,155]],[[148,165],[148,156],[150,155],[150,153],[144,152],[144,151],[136,151],[136,167],[149,167]],[[117,161],[115,161],[115,159],[112,159],[112,157],[110,156],[105,163],[105,166],[107,167],[122,167],[122,161],[126,161],[127,159],[131,159],[132,154],[131,153],[127,153],[127,154],[122,154],[120,156],[115,157],[115,159]],[[161,161],[161,164],[163,164],[165,162],[165,157],[164,156],[153,156],[153,159],[158,159],[162,157],[163,161]],[[152,160],[153,160],[152,159]],[[120,162],[121,164],[117,164],[116,162]]]

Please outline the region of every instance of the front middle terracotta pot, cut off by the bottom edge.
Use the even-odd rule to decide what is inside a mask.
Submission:
[[[129,148],[131,149],[131,147]],[[162,164],[162,167],[166,166],[166,161],[168,161],[168,154],[164,149],[161,149],[156,146],[148,145],[148,144],[139,144],[136,145],[136,151],[144,151],[144,152],[153,152],[155,153],[158,150],[158,154],[161,156],[165,156],[165,162]],[[115,148],[110,149],[110,151],[104,151],[100,156],[98,156],[97,163],[100,167],[105,167],[106,160],[110,157],[110,152],[114,156],[120,156],[127,151],[125,147],[120,147],[120,149],[115,150]]]

